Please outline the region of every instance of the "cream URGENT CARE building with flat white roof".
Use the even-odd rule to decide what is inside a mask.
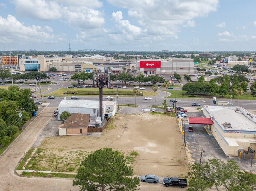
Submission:
[[[256,150],[256,117],[241,107],[204,106],[203,114],[214,122],[211,133],[226,155]]]

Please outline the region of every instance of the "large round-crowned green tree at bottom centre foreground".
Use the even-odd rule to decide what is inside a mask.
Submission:
[[[137,190],[140,180],[125,164],[123,154],[111,148],[103,148],[89,154],[80,164],[73,185],[80,190]]]

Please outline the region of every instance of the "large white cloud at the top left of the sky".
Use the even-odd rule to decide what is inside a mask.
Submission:
[[[103,3],[98,0],[13,0],[21,17],[50,21],[63,20],[75,28],[91,29],[104,25],[103,13],[94,10]]]

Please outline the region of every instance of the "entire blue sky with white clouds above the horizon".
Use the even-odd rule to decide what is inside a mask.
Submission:
[[[256,51],[255,0],[2,0],[0,51]]]

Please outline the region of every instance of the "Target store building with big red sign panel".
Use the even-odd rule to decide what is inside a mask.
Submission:
[[[193,74],[194,60],[188,58],[170,58],[167,60],[139,60],[137,73],[143,74]]]

